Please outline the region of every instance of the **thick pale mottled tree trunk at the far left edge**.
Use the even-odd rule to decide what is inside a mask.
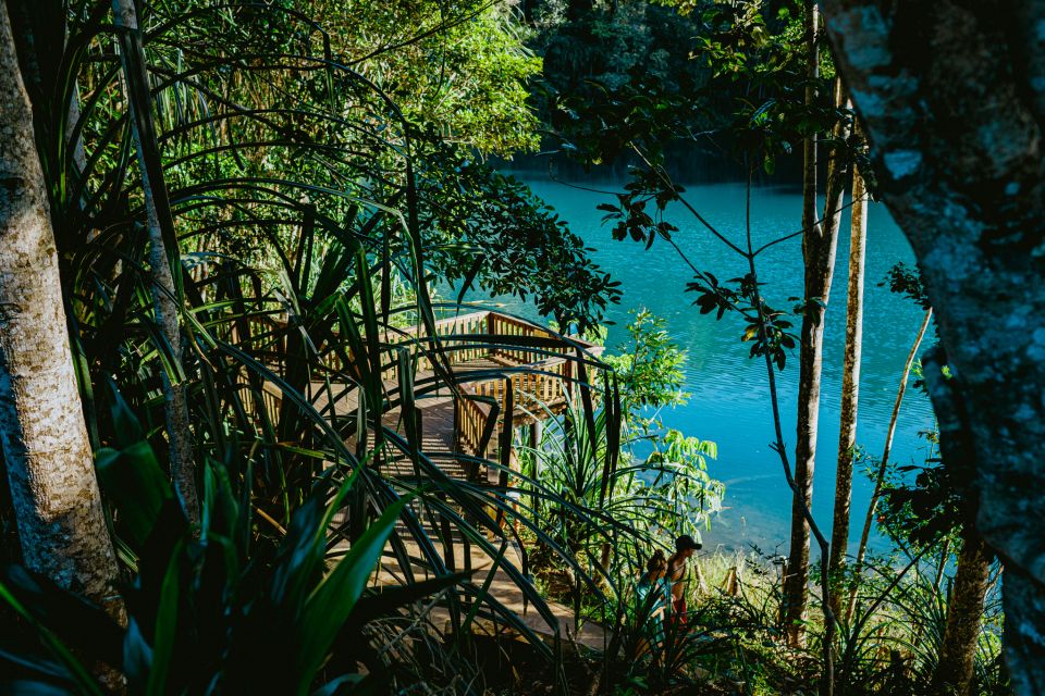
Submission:
[[[0,5],[0,446],[29,569],[120,612],[33,114]]]

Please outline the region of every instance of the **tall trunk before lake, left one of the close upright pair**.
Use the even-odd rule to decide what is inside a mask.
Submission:
[[[835,80],[834,102],[845,104],[841,80]],[[848,137],[848,125],[839,123],[833,133],[836,140]],[[815,144],[813,145],[815,152]],[[815,154],[814,154],[815,158]],[[807,162],[807,167],[809,163]],[[795,483],[802,498],[791,501],[791,540],[788,558],[790,575],[785,586],[785,630],[790,645],[800,645],[804,637],[807,587],[809,585],[809,523],[804,509],[812,509],[813,471],[816,462],[816,434],[820,420],[820,382],[823,372],[824,319],[834,276],[841,225],[843,198],[849,166],[845,156],[833,156],[827,164],[826,201],[822,223],[808,225],[803,210],[804,233],[802,257],[806,266],[802,334],[799,347],[798,432],[795,446]],[[812,188],[815,194],[815,183]],[[814,201],[815,204],[815,201]],[[808,202],[803,203],[808,208]],[[815,216],[815,208],[813,216]]]

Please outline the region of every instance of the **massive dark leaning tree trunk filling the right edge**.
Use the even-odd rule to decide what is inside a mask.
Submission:
[[[963,434],[976,529],[1001,559],[1017,694],[1045,692],[1045,41],[1041,0],[829,0],[828,29],[880,189],[947,352],[926,373]],[[946,430],[945,430],[946,426]]]

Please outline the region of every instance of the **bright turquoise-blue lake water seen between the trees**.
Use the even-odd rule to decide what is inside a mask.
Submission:
[[[606,341],[608,349],[625,340],[624,326],[631,309],[648,308],[667,320],[673,339],[688,351],[686,406],[661,415],[668,427],[718,445],[718,459],[710,462],[714,477],[726,484],[722,513],[704,533],[704,547],[748,547],[757,544],[766,552],[787,552],[790,493],[778,457],[770,449],[773,422],[765,368],[748,358],[749,347],[739,341],[737,318],[715,321],[701,315],[685,293],[691,273],[663,240],[652,249],[634,241],[614,241],[601,223],[595,207],[612,200],[603,194],[579,190],[540,174],[522,175],[534,192],[551,204],[593,249],[592,256],[622,282],[624,297],[608,312],[615,322]],[[614,190],[619,183],[585,186]],[[735,244],[743,243],[745,186],[696,184],[686,186],[687,200]],[[675,239],[697,268],[730,278],[747,272],[746,261],[709,234],[680,206],[668,209],[668,220],[679,227]],[[752,231],[755,246],[801,227],[801,195],[794,187],[762,187],[752,195]],[[829,535],[838,451],[838,411],[845,344],[846,278],[849,253],[848,211],[838,244],[835,281],[826,315],[824,373],[821,395],[820,435],[813,492],[813,514]],[[868,224],[866,287],[864,295],[863,359],[860,380],[858,443],[881,457],[903,362],[922,320],[922,310],[878,284],[898,261],[913,264],[913,253],[902,233],[882,204],[872,204]],[[776,245],[759,257],[760,279],[766,283],[770,304],[790,308],[790,297],[802,295],[801,241]],[[507,298],[496,298],[508,311],[536,318],[532,308]],[[924,348],[924,346],[923,346]],[[794,352],[778,373],[785,439],[794,459],[798,356]],[[909,389],[900,411],[892,460],[921,463],[925,440],[920,431],[932,427],[927,397]],[[859,537],[871,482],[860,474],[853,489],[853,537]],[[851,544],[851,546],[855,542]]]

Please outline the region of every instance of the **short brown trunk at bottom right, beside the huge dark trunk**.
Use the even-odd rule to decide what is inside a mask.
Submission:
[[[983,601],[991,580],[991,552],[971,531],[958,555],[958,570],[947,605],[947,629],[933,673],[933,693],[967,696],[974,676]]]

